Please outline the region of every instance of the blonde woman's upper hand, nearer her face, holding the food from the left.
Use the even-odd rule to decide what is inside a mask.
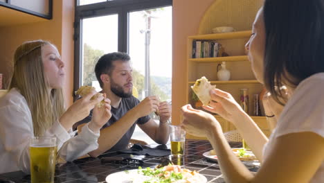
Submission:
[[[99,96],[98,98],[91,100],[91,97],[95,94],[97,94],[97,92],[93,89],[89,94],[80,98],[78,101],[75,101],[75,103],[73,103],[66,112],[64,112],[60,118],[60,123],[66,130],[72,128],[74,123],[89,116],[93,107],[104,99],[103,96]]]

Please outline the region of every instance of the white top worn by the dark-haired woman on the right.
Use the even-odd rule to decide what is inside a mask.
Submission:
[[[314,132],[324,137],[323,91],[324,73],[316,73],[300,82],[282,110],[268,143],[264,146],[264,159],[267,159],[271,149],[273,149],[274,140],[284,134]],[[324,182],[324,162],[310,182]]]

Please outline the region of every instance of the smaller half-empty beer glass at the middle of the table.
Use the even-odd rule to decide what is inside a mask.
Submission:
[[[170,125],[170,141],[172,155],[183,155],[186,141],[186,131],[179,125]]]

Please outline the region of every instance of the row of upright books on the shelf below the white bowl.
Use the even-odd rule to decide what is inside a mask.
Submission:
[[[210,40],[192,41],[192,58],[214,58],[222,56],[222,44]]]

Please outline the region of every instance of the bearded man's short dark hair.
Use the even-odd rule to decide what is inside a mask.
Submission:
[[[101,88],[103,87],[103,82],[100,79],[101,74],[106,73],[111,76],[111,71],[114,69],[113,62],[116,60],[128,62],[130,57],[127,55],[127,53],[114,52],[102,55],[101,58],[99,58],[95,67],[95,73]]]

